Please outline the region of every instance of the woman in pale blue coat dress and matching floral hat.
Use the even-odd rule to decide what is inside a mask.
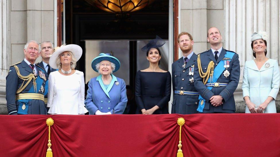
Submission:
[[[278,61],[269,59],[266,32],[252,35],[251,47],[256,59],[246,61],[243,73],[245,113],[276,113],[275,99],[279,92]]]

